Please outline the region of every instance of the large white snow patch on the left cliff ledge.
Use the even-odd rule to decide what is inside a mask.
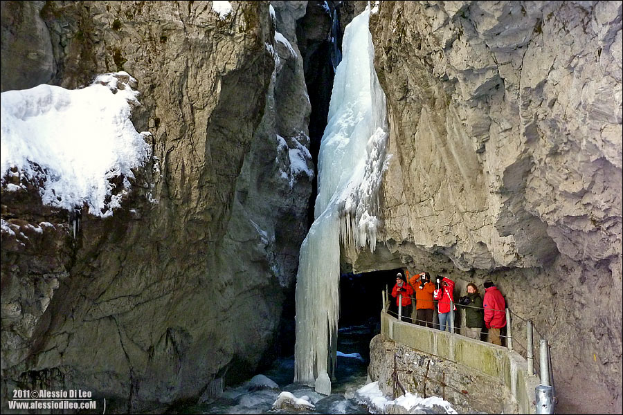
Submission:
[[[10,169],[17,167],[26,178],[44,179],[44,204],[73,211],[87,203],[89,213],[111,215],[130,187],[132,169],[150,152],[149,133],[138,133],[131,120],[129,102],[139,105],[133,82],[120,72],[100,75],[83,89],[42,84],[1,93],[0,176],[15,176]],[[125,190],[112,194],[109,179],[118,176]]]

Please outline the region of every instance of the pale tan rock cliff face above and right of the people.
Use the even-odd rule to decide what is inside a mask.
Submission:
[[[550,341],[563,412],[622,405],[621,28],[602,1],[383,1],[370,21],[393,158],[387,249],[355,268],[493,279]]]

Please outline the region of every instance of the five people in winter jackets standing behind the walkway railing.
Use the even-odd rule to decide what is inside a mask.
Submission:
[[[456,311],[454,285],[453,280],[448,277],[440,275],[433,283],[428,273],[417,273],[409,277],[406,271],[405,275],[402,273],[396,275],[392,297],[396,298],[396,306],[401,299],[402,315],[405,316],[405,320],[415,320],[416,324],[431,328],[436,302],[439,326],[434,328],[451,331],[453,322],[450,320],[450,308],[453,307],[453,311]],[[467,284],[467,295],[460,297],[458,301],[459,307],[465,311],[465,326],[461,329],[461,334],[480,340],[480,333],[485,326],[489,330],[489,341],[501,346],[500,330],[506,326],[506,303],[493,282],[487,281],[484,286],[484,299],[480,297],[476,284],[470,282]],[[413,319],[413,300],[415,300],[415,319]]]

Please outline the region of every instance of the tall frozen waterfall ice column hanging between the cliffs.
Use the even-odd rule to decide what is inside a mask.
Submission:
[[[320,142],[315,220],[300,250],[294,381],[322,394],[331,393],[336,354],[340,241],[347,249],[368,243],[374,250],[377,192],[388,160],[385,94],[374,72],[369,17],[366,8],[345,30]]]

